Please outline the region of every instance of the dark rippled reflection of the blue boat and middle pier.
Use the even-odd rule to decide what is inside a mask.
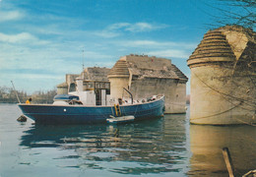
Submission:
[[[24,132],[20,146],[58,149],[61,155],[54,159],[76,159],[64,168],[180,174],[186,170],[188,159],[185,121],[185,115],[166,115],[119,126],[35,125]]]

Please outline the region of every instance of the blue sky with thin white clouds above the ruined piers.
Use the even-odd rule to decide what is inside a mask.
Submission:
[[[0,0],[0,87],[54,89],[83,63],[111,68],[131,53],[170,59],[190,78],[186,60],[215,27],[217,2]]]

